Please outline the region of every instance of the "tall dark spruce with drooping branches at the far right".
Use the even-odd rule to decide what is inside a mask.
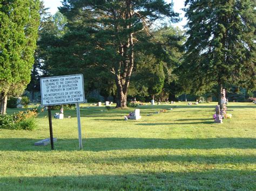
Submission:
[[[188,31],[183,65],[185,89],[225,83],[255,86],[255,10],[250,0],[186,0]],[[221,105],[221,104],[220,104]]]

